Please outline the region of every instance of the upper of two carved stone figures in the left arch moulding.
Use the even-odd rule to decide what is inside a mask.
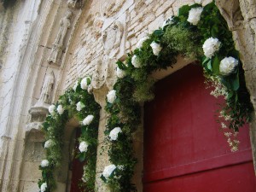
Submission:
[[[72,11],[67,10],[66,15],[60,21],[60,28],[55,38],[55,42],[52,45],[49,58],[47,60],[49,63],[55,63],[57,65],[61,65],[60,60],[61,60],[62,50],[64,49],[63,48],[64,40],[67,35],[67,30],[70,28],[70,25],[71,25],[70,20],[72,15],[73,15]]]

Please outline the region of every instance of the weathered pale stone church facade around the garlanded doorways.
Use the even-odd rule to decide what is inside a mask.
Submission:
[[[135,49],[140,38],[153,32],[183,4],[210,0],[18,0],[13,8],[0,7],[0,191],[38,191],[38,170],[44,157],[44,135],[40,131],[50,103],[56,102],[68,87],[85,75],[92,77],[91,90],[102,106],[96,190],[108,191],[100,175],[108,164],[101,154],[107,113],[105,96],[116,80],[115,61]],[[227,20],[236,48],[241,53],[247,88],[256,108],[256,1],[216,1]],[[154,75],[161,79],[189,61],[178,60],[174,69]],[[256,121],[253,114],[251,143],[256,165]],[[73,130],[65,129],[65,154],[71,154]],[[134,182],[143,191],[143,129],[137,131],[138,157]],[[67,151],[69,151],[67,153]],[[107,153],[107,152],[105,152]],[[69,155],[63,169],[56,173],[57,191],[70,182]],[[255,166],[256,170],[256,166]]]

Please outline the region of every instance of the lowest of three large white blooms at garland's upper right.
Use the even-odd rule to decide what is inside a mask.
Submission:
[[[219,72],[223,75],[229,75],[233,73],[236,66],[238,66],[238,60],[234,57],[225,57],[219,64]]]

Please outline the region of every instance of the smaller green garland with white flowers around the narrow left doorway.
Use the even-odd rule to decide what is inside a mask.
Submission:
[[[73,117],[81,122],[82,131],[77,158],[80,161],[86,160],[80,186],[86,191],[95,189],[100,106],[95,102],[94,96],[88,93],[88,85],[90,85],[90,77],[79,79],[73,89],[67,90],[55,105],[49,106],[49,115],[43,124],[46,159],[42,160],[39,166],[42,171],[42,179],[38,181],[40,192],[51,192],[56,187],[54,172],[55,168],[61,166],[64,127]]]

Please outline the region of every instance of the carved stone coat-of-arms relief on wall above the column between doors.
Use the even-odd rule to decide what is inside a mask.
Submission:
[[[95,66],[95,72],[92,76],[92,86],[99,89],[103,84],[111,87],[114,82],[115,67],[113,63],[119,54],[121,39],[124,35],[124,26],[121,22],[116,21],[113,26],[102,32],[102,43],[104,47],[103,56],[100,56],[92,64]]]

